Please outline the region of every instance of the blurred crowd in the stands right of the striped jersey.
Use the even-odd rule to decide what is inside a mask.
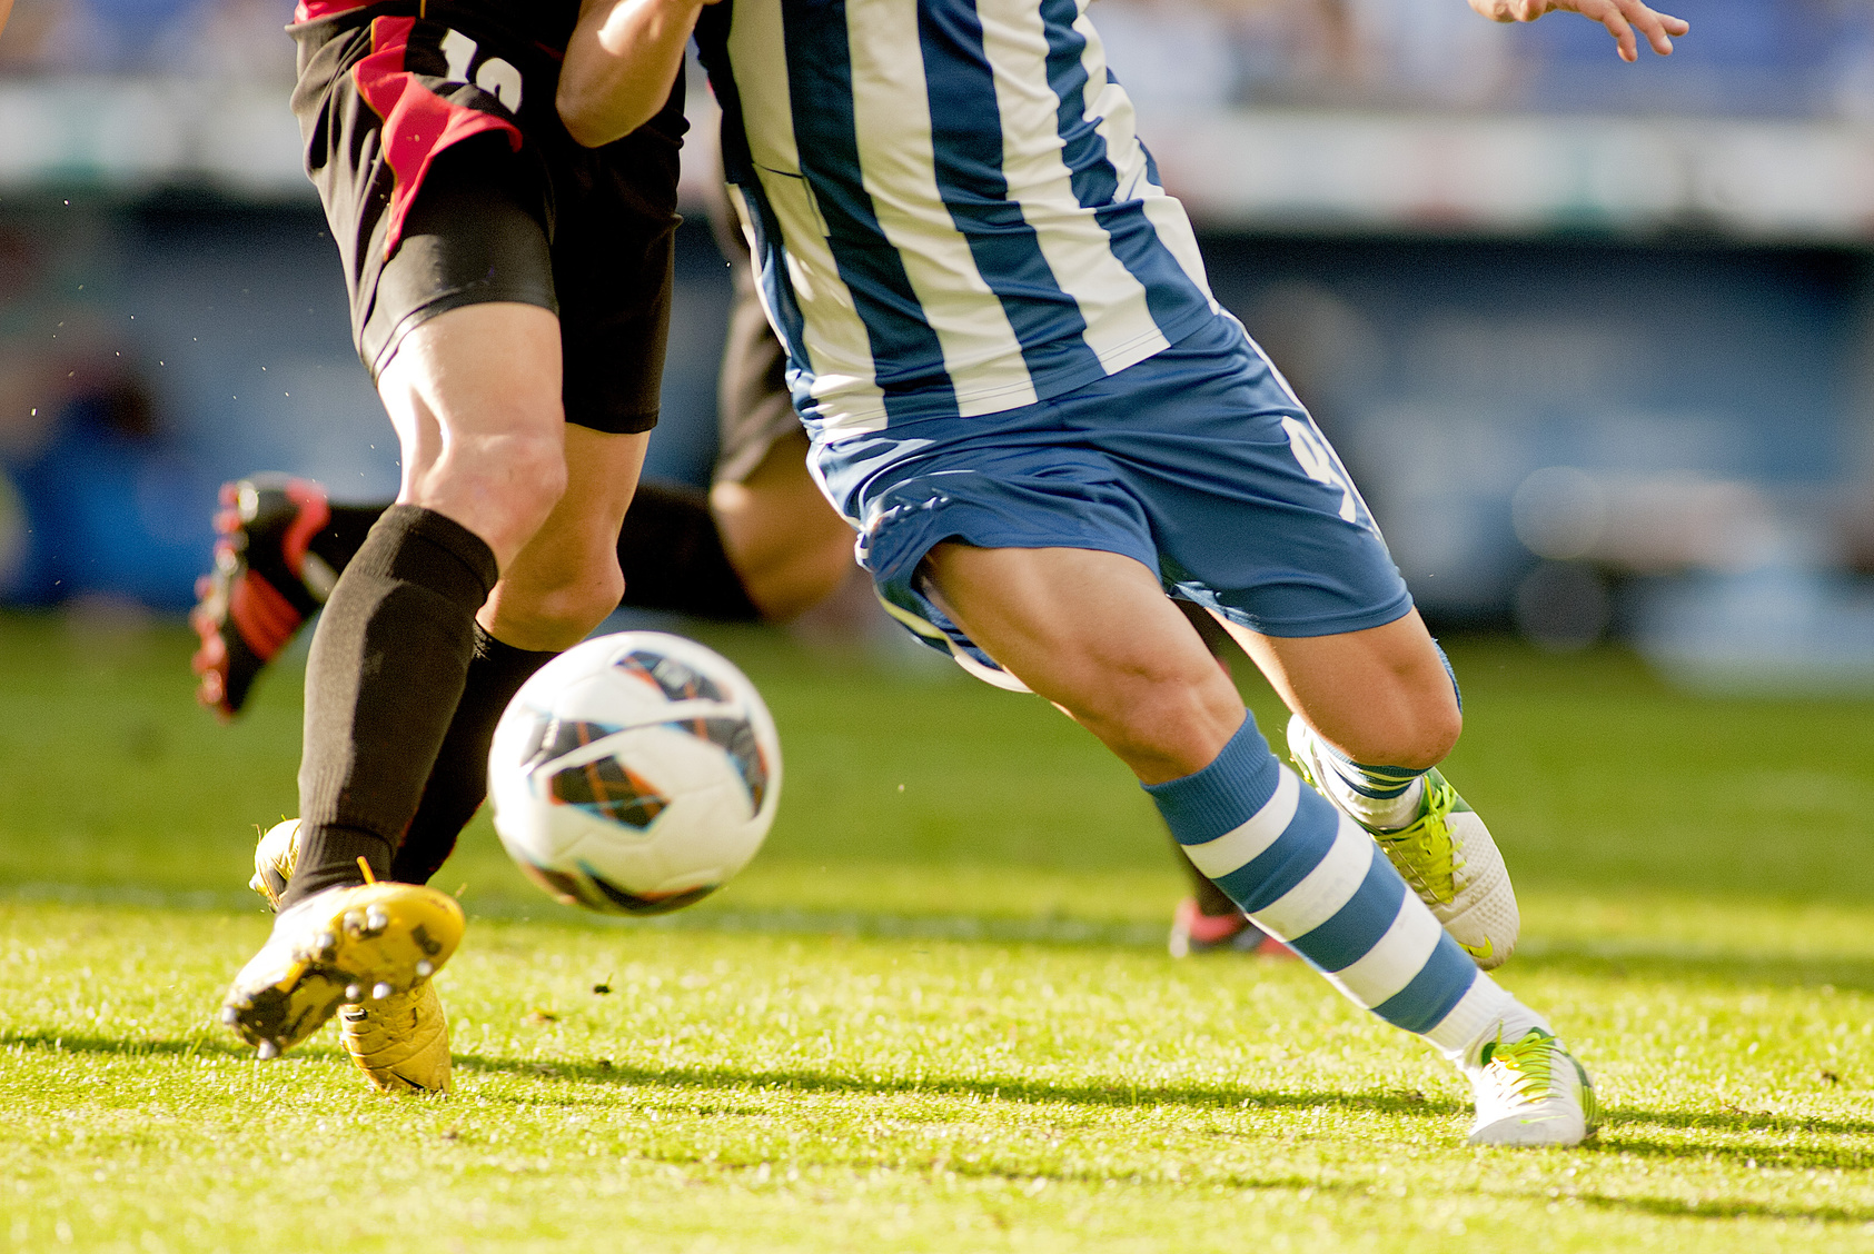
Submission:
[[[1615,60],[1600,26],[1480,21],[1462,0],[1100,0],[1145,112],[1503,109],[1874,120],[1874,2],[1666,0],[1668,60]]]

